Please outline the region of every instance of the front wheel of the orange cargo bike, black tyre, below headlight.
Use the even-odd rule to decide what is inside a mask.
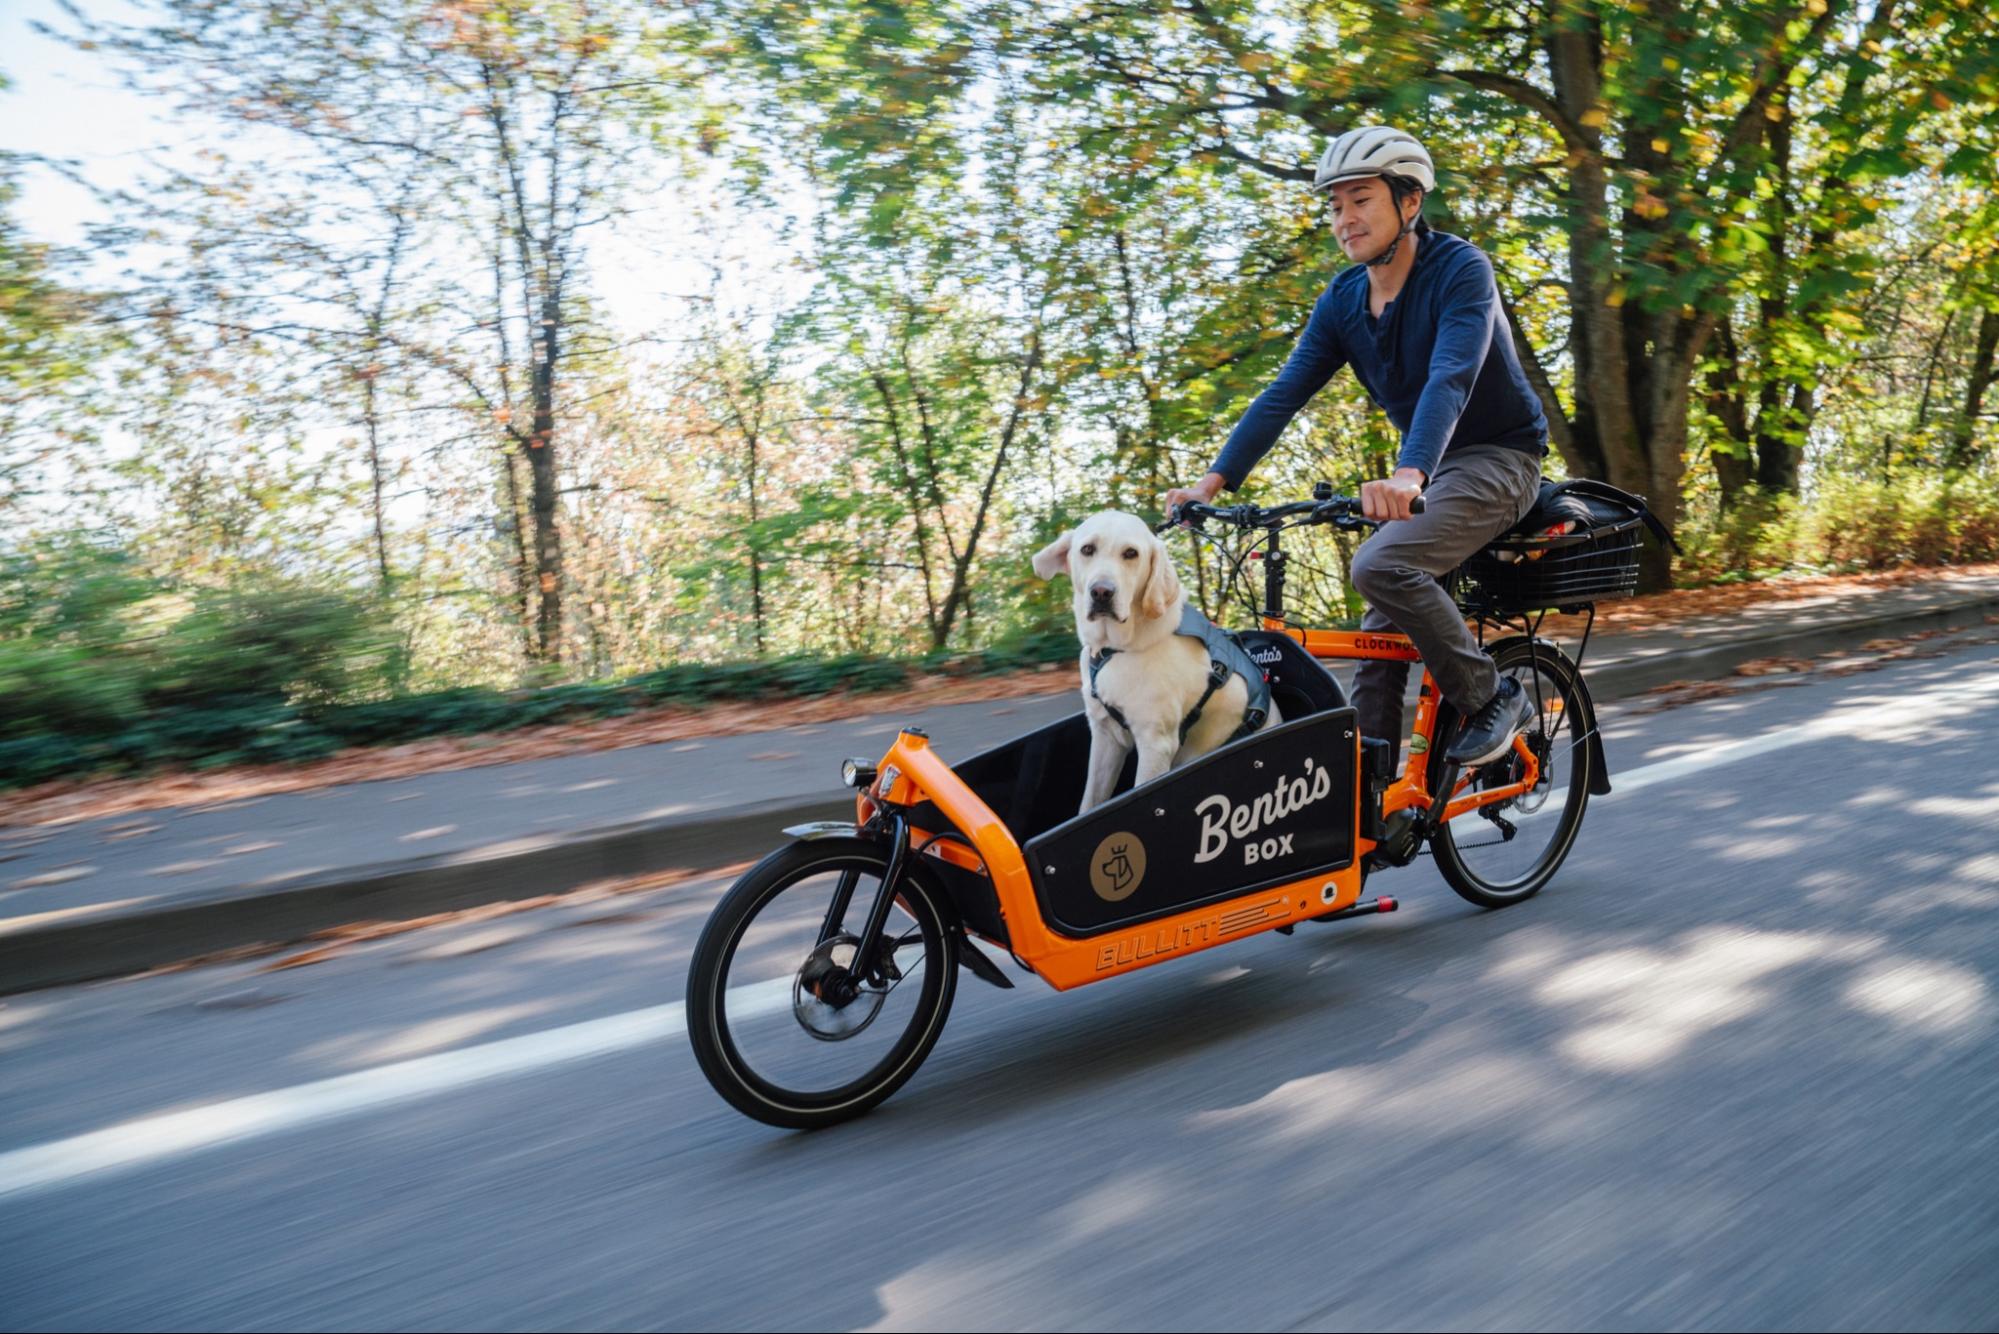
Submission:
[[[908,866],[882,930],[888,966],[856,966],[856,936],[888,850],[866,838],[792,844],[758,862],[710,916],[688,972],[688,1038],[730,1106],[816,1130],[868,1112],[924,1064],[958,986],[944,896]]]

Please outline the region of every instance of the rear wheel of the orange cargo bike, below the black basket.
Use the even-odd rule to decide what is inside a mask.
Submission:
[[[1499,646],[1493,666],[1527,692],[1533,712],[1521,736],[1541,772],[1533,790],[1457,816],[1429,842],[1445,882],[1481,908],[1533,898],[1555,878],[1575,846],[1593,778],[1591,710],[1575,662],[1551,644],[1513,640]],[[1437,722],[1441,748],[1441,738],[1451,736],[1445,726],[1455,728],[1455,718]],[[1481,766],[1459,796],[1511,786],[1523,770],[1519,756],[1507,752]]]

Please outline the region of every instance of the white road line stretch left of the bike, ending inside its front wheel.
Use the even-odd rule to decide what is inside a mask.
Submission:
[[[730,1014],[750,1018],[792,1004],[792,978],[774,978],[730,992]],[[66,1186],[84,1176],[118,1172],[314,1122],[428,1098],[508,1074],[544,1070],[572,1060],[624,1052],[686,1030],[686,1006],[648,1006],[600,1020],[482,1042],[456,1052],[398,1060],[392,1066],[314,1080],[268,1094],[232,1098],[206,1108],[142,1116],[120,1126],[0,1154],[0,1200]]]

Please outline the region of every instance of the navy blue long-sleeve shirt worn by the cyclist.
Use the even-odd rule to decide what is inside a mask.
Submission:
[[[1421,232],[1409,280],[1379,320],[1367,310],[1363,264],[1341,270],[1319,294],[1283,370],[1213,462],[1229,490],[1341,366],[1353,366],[1401,430],[1397,468],[1435,476],[1445,450],[1459,444],[1547,454],[1547,418],[1519,370],[1491,260],[1457,236]]]

